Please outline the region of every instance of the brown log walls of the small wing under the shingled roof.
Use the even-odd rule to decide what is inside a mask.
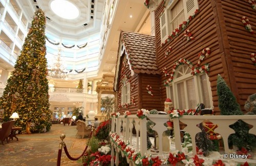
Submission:
[[[157,109],[162,110],[161,95],[159,89],[160,75],[152,74],[134,74],[131,76],[131,70],[127,66],[125,56],[122,57],[121,71],[119,73],[118,85],[118,112],[123,113],[129,110],[131,114],[136,114],[138,109]],[[126,77],[130,80],[130,98],[129,105],[121,104],[122,78]]]

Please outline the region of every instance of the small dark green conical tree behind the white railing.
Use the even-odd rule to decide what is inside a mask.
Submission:
[[[236,98],[220,74],[217,79],[217,95],[219,97],[218,101],[221,115],[243,115]],[[235,131],[234,134],[231,134],[228,137],[229,145],[237,146],[240,150],[242,147],[251,149],[256,146],[256,137],[255,135],[248,133],[249,127],[247,123],[238,120],[229,127]]]

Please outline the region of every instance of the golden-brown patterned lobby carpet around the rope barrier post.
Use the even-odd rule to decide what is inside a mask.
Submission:
[[[76,138],[76,126],[53,124],[51,131],[36,134],[18,134],[18,141],[14,138],[5,145],[0,144],[0,165],[21,166],[50,166],[57,165],[57,155],[60,143],[60,134],[66,134],[64,142],[72,157],[78,157],[86,148],[88,139]],[[82,165],[78,161],[70,160],[64,149],[61,153],[61,166]]]

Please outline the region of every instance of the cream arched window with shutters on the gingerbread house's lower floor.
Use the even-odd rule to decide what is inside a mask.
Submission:
[[[167,87],[167,97],[173,100],[176,109],[194,109],[199,103],[211,108],[212,95],[209,78],[205,73],[191,75],[187,65],[181,65],[175,72],[173,82]]]

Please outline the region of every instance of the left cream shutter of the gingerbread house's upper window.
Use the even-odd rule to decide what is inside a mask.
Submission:
[[[167,10],[164,10],[164,13],[160,16],[160,31],[161,31],[162,43],[168,38],[168,35],[169,35],[167,18],[168,18]]]

